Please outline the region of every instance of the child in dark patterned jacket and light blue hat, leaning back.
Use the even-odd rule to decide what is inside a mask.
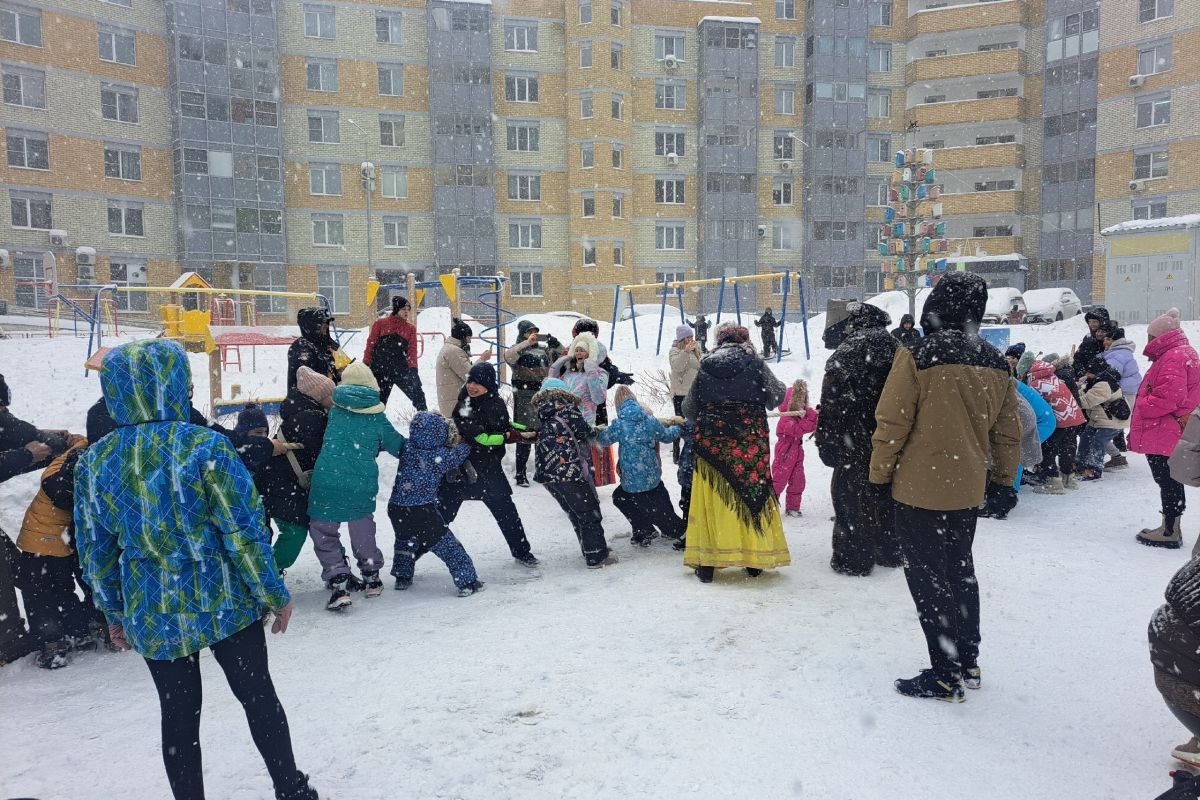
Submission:
[[[599,570],[616,564],[617,559],[608,553],[600,522],[600,498],[592,482],[592,461],[587,452],[593,432],[583,420],[580,402],[558,378],[547,378],[541,391],[533,396],[541,422],[533,480],[545,486],[566,512],[588,569]]]

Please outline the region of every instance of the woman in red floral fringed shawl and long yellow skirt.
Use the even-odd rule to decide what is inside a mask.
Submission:
[[[791,563],[770,483],[766,413],[784,402],[786,387],[749,341],[746,329],[722,325],[683,403],[696,426],[683,563],[702,583],[710,583],[718,567],[757,576]]]

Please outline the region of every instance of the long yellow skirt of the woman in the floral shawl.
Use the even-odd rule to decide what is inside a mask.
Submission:
[[[697,469],[692,476],[684,566],[748,566],[770,570],[791,564],[779,504],[767,504],[763,510],[763,530],[756,531],[721,501],[706,476],[708,471]],[[722,479],[718,475],[715,480]]]

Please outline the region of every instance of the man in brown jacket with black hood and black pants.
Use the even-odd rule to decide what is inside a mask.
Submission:
[[[971,546],[991,481],[1015,500],[1021,455],[1016,391],[1004,356],[978,335],[988,284],[950,272],[925,301],[925,337],[896,350],[875,409],[870,481],[890,486],[905,577],[931,669],[898,680],[910,697],[961,702],[979,687],[979,584]]]

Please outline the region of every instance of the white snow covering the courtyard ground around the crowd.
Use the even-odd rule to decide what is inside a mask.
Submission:
[[[635,373],[665,366],[653,344],[631,349],[626,326],[613,360]],[[1082,330],[1079,318],[1013,338],[1068,351]],[[1188,332],[1200,341],[1200,324]],[[1145,342],[1142,329],[1130,335]],[[805,362],[796,344],[778,372],[812,379],[816,395],[824,354]],[[82,429],[100,393],[85,355],[82,339],[0,341],[14,411]],[[282,362],[282,349],[264,348],[256,375],[226,385],[281,393]],[[193,372],[206,397],[202,359]],[[400,420],[402,409],[397,397],[390,411]],[[1130,800],[1169,786],[1170,747],[1184,735],[1154,690],[1145,630],[1187,555],[1133,541],[1157,522],[1145,459],[1068,497],[1022,492],[1008,521],[980,522],[984,688],[952,706],[893,691],[925,666],[904,576],[829,570],[829,474],[809,450],[805,516],[785,525],[793,564],[757,581],[698,584],[670,547],[631,548],[607,501],[620,563],[587,571],[536,486],[515,489],[544,561],[535,572],[512,563],[480,504],[463,507],[454,529],[488,584],[475,597],[456,599],[430,558],[410,591],[356,597],[335,616],[304,553],[288,575],[292,628],[271,639],[300,766],[332,798]],[[395,462],[380,462],[385,491]],[[29,476],[0,486],[5,530],[19,528],[34,488]],[[208,654],[203,664],[208,795],[270,798],[236,702]],[[0,709],[0,796],[169,796],[158,708],[136,655],[84,655],[54,673],[31,660],[6,667]]]

